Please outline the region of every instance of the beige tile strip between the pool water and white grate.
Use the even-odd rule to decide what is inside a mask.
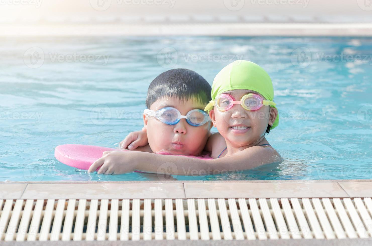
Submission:
[[[372,197],[372,180],[6,182],[0,199]]]

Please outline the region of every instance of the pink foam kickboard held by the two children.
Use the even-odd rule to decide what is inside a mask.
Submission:
[[[94,145],[65,144],[55,147],[54,156],[58,161],[74,168],[88,170],[94,161],[102,157],[103,152],[109,150],[130,151],[126,149],[115,149]],[[167,153],[160,153],[167,154]],[[180,155],[181,156],[181,155]],[[188,156],[199,159],[213,159],[201,156]],[[97,168],[98,170],[99,168]],[[96,171],[97,171],[96,170]],[[139,171],[136,171],[139,172]]]

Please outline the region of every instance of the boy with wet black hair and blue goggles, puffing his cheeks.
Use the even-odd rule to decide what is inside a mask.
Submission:
[[[136,150],[200,155],[210,135],[211,124],[204,112],[210,100],[211,85],[194,71],[171,69],[158,75],[148,87],[144,127],[140,131],[148,145],[145,141],[145,145]],[[126,148],[123,143],[136,133],[128,135],[121,147]]]

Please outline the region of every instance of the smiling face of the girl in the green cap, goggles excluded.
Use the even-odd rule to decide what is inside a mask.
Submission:
[[[251,90],[231,90],[224,94],[230,94],[239,101],[241,97],[248,93],[254,93],[262,98],[261,94]],[[266,99],[266,98],[264,98]],[[227,111],[219,111],[217,108],[209,111],[213,125],[217,127],[218,132],[225,138],[230,145],[235,148],[243,146],[254,146],[259,143],[265,136],[267,125],[273,125],[278,110],[267,105],[262,106],[255,111],[244,109],[240,104]]]

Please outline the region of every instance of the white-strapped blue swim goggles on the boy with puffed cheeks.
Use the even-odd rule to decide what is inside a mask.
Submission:
[[[209,121],[209,115],[201,109],[190,110],[186,115],[181,115],[180,111],[173,107],[165,107],[156,112],[145,109],[143,112],[169,125],[177,124],[181,119],[186,119],[187,123],[192,126],[202,126]]]

